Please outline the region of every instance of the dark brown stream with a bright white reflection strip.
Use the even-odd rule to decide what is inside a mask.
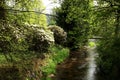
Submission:
[[[90,41],[95,42],[94,40]],[[56,80],[97,80],[95,74],[97,67],[95,59],[98,56],[98,53],[96,53],[96,46],[88,46],[87,50],[87,57],[72,57],[62,65],[59,65],[56,70]],[[73,53],[80,56],[82,55],[81,52]]]

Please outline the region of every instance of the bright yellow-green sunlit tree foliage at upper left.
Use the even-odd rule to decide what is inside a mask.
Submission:
[[[17,25],[28,23],[47,26],[46,15],[42,14],[45,9],[42,0],[2,0],[0,7],[2,20]]]

